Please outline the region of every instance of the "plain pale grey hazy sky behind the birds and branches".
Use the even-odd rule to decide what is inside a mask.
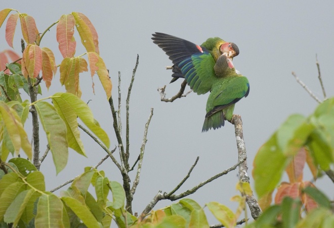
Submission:
[[[117,102],[118,71],[121,72],[122,108],[125,108],[132,70],[139,54],[140,63],[130,101],[131,165],[138,157],[150,108],[154,108],[140,184],[133,201],[133,210],[139,213],[158,190],[171,191],[187,174],[197,156],[200,156],[197,166],[177,193],[192,188],[237,162],[234,127],[230,123],[222,129],[201,133],[208,94],[198,96],[191,93],[173,103],[160,101],[157,88],[170,82],[171,71],[166,71],[165,66],[171,65],[171,61],[153,44],[152,33],[164,32],[196,44],[201,44],[208,37],[219,36],[238,45],[240,54],[233,63],[248,78],[251,91],[247,98],[236,104],[234,113],[242,116],[249,176],[252,176],[252,163],[257,150],[287,116],[296,112],[308,116],[317,105],[296,82],[291,71],[295,71],[322,99],[315,65],[317,54],[327,96],[333,95],[332,1],[3,1],[1,9],[5,8],[17,9],[20,13],[34,17],[40,33],[63,14],[73,11],[85,14],[99,34],[100,55],[110,69],[114,103]],[[79,55],[85,50],[78,33],[74,35],[77,41],[76,55]],[[21,37],[18,25],[14,39],[17,52],[21,50]],[[56,26],[46,33],[40,46],[51,48],[56,63],[61,63]],[[6,48],[4,24],[0,29],[0,50]],[[179,81],[166,87],[168,97],[179,91]],[[91,100],[89,106],[109,134],[112,149],[117,141],[109,104],[97,76],[94,76],[94,82],[96,95],[92,92],[90,73],[80,74],[83,91],[81,98],[84,101]],[[57,91],[65,91],[59,83],[59,72],[49,92],[43,84],[43,96],[39,98]],[[126,112],[125,109],[121,111],[125,126]],[[31,132],[28,124],[26,130]],[[40,133],[45,135],[41,127]],[[84,133],[81,136],[88,158],[71,150],[68,165],[58,176],[55,175],[51,154],[41,164],[40,170],[46,175],[48,190],[82,173],[85,166],[97,164],[106,155],[92,139]],[[41,155],[47,144],[45,139],[42,141]],[[118,155],[116,157],[118,159]],[[119,171],[110,159],[99,169],[105,170],[110,180],[121,181]],[[311,180],[311,176],[305,179]],[[189,197],[202,206],[210,201],[218,201],[235,209],[236,203],[229,199],[238,194],[235,190],[237,181],[235,170]],[[252,177],[251,183],[254,183]],[[329,197],[333,197],[334,188],[327,177],[318,180],[317,185]],[[170,204],[170,201],[162,201],[154,209]],[[208,217],[210,223],[217,223],[212,215]]]

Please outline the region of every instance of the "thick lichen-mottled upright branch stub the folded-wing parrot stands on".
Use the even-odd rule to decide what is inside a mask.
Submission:
[[[234,125],[235,129],[235,138],[238,147],[238,161],[240,162],[239,165],[239,178],[241,182],[249,183],[249,177],[247,175],[247,154],[246,154],[246,147],[245,141],[243,140],[243,132],[242,132],[242,120],[240,115],[233,115],[232,124]],[[257,219],[262,210],[260,205],[258,204],[257,200],[255,199],[254,195],[246,196],[246,202],[248,204],[249,209],[251,209],[251,214],[254,219]]]

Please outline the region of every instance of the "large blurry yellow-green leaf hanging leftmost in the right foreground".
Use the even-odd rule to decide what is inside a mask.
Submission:
[[[289,162],[277,146],[276,133],[259,149],[254,159],[253,177],[259,197],[275,189]]]

